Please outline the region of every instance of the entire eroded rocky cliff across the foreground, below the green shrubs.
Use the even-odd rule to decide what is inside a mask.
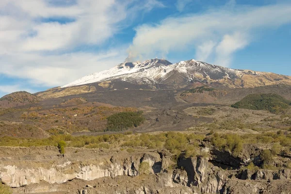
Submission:
[[[256,194],[276,189],[287,192],[291,186],[290,169],[223,169],[213,160],[225,165],[231,160],[211,155],[181,156],[173,168],[175,163],[166,150],[128,153],[67,148],[65,157],[58,155],[55,147],[1,147],[1,152],[0,178],[14,187],[15,193]],[[238,161],[243,163],[242,158]]]

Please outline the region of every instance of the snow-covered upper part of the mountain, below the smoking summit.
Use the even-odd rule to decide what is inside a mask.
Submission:
[[[124,62],[111,69],[93,73],[73,81],[62,86],[62,88],[112,80],[134,81],[136,83],[162,83],[162,81],[166,80],[168,75],[173,71],[183,74],[186,80],[191,81],[196,79],[195,75],[204,78],[209,77],[212,80],[218,80],[224,77],[234,79],[241,70],[210,65],[194,59],[181,61],[177,64],[172,64],[162,59],[151,59],[143,63]]]

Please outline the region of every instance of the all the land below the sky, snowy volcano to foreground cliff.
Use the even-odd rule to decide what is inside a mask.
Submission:
[[[289,194],[290,107],[289,76],[195,60],[13,93],[0,98],[0,192]]]

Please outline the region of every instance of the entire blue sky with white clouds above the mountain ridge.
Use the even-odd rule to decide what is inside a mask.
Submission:
[[[0,96],[156,57],[291,76],[290,51],[290,0],[0,1]]]

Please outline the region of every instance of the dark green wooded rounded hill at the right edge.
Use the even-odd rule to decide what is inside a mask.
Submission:
[[[290,100],[277,94],[250,94],[231,106],[234,108],[265,110],[271,113],[278,113],[289,109],[290,105]]]

